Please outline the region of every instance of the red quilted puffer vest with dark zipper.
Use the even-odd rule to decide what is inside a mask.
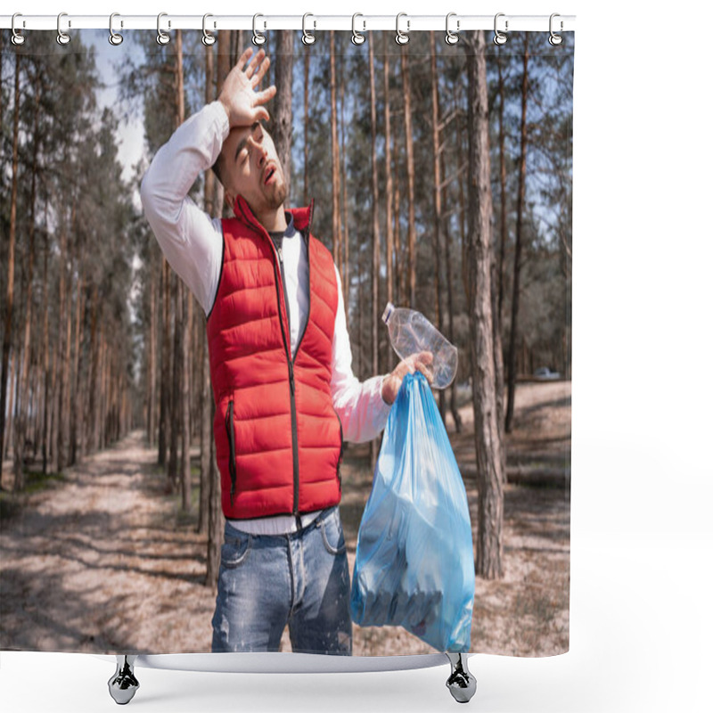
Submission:
[[[307,236],[309,274],[294,361],[275,245],[241,197],[236,217],[223,220],[208,345],[226,518],[299,515],[340,501],[342,431],[330,390],[339,293],[331,253],[309,235],[311,209],[291,209]]]

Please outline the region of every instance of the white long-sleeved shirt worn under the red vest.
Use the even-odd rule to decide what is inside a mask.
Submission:
[[[202,171],[217,160],[230,131],[225,109],[212,102],[176,129],[161,146],[143,176],[141,201],[153,233],[168,264],[176,271],[209,314],[216,299],[223,258],[223,230],[219,218],[211,218],[188,195]],[[309,306],[307,255],[299,233],[283,239],[286,299],[290,308],[292,356],[307,324]],[[332,402],[340,416],[345,440],[363,442],[375,438],[386,425],[390,406],[381,398],[383,376],[360,382],[352,372],[351,345],[344,298],[339,289],[332,340]],[[305,525],[311,518],[302,517]],[[283,534],[296,529],[290,516],[236,520],[235,527],[253,534]]]

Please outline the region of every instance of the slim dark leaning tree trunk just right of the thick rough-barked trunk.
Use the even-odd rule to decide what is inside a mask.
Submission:
[[[505,430],[512,430],[515,412],[515,379],[517,377],[516,350],[518,312],[520,310],[520,267],[522,263],[522,213],[525,203],[526,153],[528,147],[528,33],[525,33],[525,52],[522,55],[522,112],[520,119],[520,172],[518,175],[517,225],[515,226],[515,260],[512,266],[512,312],[510,317],[510,350],[507,373],[507,413]]]

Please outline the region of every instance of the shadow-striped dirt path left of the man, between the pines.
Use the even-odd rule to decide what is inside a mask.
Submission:
[[[132,433],[3,523],[2,648],[209,651],[204,538],[176,527],[154,462]]]

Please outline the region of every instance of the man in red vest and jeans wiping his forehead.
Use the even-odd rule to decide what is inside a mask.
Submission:
[[[283,168],[260,123],[275,86],[249,49],[217,102],[176,130],[143,178],[143,208],[170,265],[208,316],[214,437],[225,513],[214,652],[351,653],[349,572],[337,505],[342,441],[386,424],[406,373],[363,383],[351,370],[340,279],[309,234],[311,208],[286,211]],[[210,167],[234,218],[188,197]]]

